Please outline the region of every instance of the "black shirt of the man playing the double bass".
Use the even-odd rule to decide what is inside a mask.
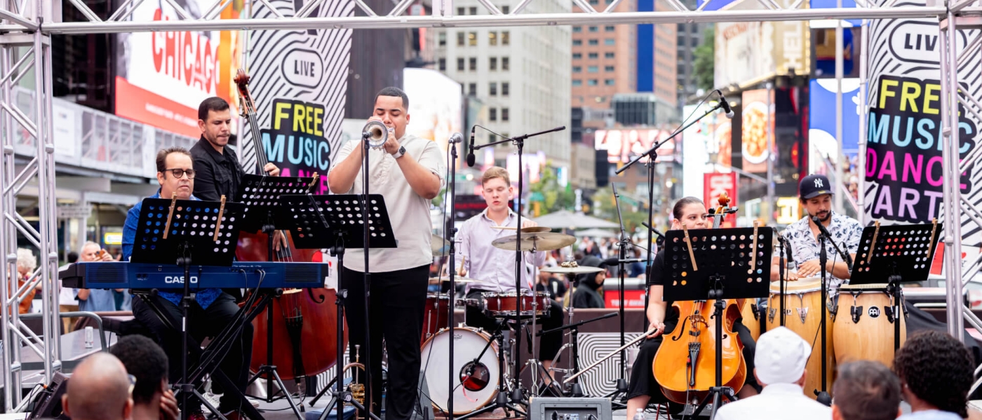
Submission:
[[[227,201],[236,200],[246,171],[235,152],[225,147],[218,153],[202,136],[191,147],[191,160],[194,161],[194,197],[217,202],[224,195]]]

